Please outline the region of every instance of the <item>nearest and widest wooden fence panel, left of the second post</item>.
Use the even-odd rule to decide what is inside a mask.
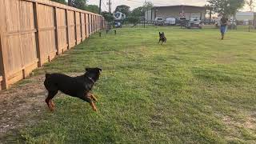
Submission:
[[[5,64],[8,84],[25,78],[38,65],[33,3],[26,1],[5,1],[6,34],[2,41],[6,46],[2,54],[8,61]]]

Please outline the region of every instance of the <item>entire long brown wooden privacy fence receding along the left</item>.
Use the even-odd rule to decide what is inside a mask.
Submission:
[[[49,0],[0,0],[0,90],[104,28],[101,15]]]

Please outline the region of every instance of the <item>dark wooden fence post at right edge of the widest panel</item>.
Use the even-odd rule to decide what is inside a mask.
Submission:
[[[39,34],[39,20],[38,20],[38,2],[33,3],[34,11],[34,28],[37,30],[35,33],[35,43],[37,47],[37,56],[38,56],[38,67],[42,66],[42,55],[41,55],[41,46],[40,46],[40,34]]]

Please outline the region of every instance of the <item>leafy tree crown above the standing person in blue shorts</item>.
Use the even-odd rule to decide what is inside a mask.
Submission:
[[[234,15],[245,4],[245,0],[207,0],[209,6],[218,14]]]

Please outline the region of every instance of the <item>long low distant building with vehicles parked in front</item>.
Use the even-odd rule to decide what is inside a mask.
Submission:
[[[149,21],[154,21],[155,18],[179,18],[186,17],[205,19],[206,17],[206,7],[205,6],[155,6],[150,10],[146,10],[145,18]]]

